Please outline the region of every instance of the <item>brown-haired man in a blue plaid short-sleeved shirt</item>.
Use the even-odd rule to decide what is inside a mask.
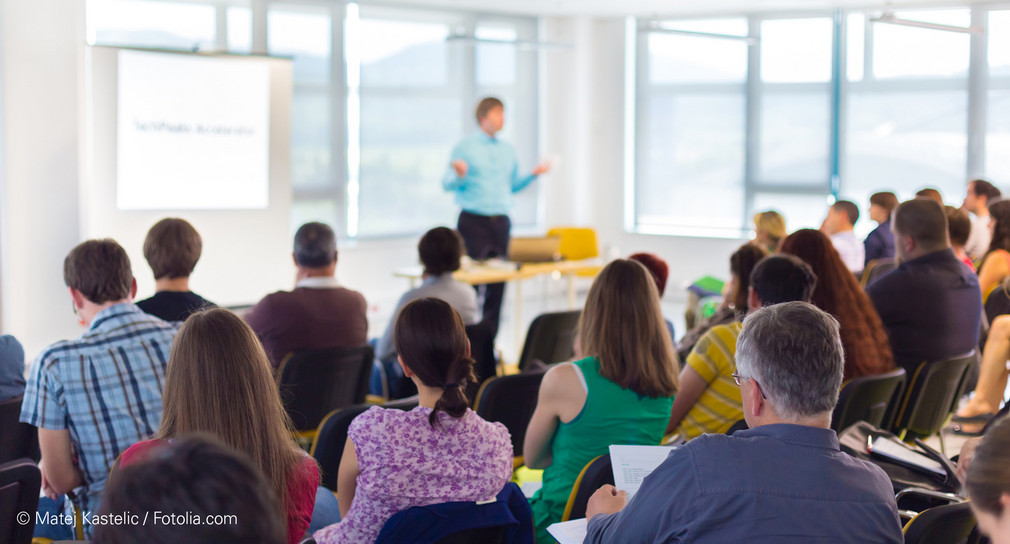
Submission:
[[[132,303],[136,282],[129,257],[113,240],[89,240],[71,250],[64,281],[88,330],[38,355],[20,420],[38,427],[42,489],[56,501],[40,501],[39,511],[59,513],[58,496],[74,492],[75,506],[92,513],[119,453],[158,431],[176,329]],[[70,539],[73,532],[36,526],[35,536]]]

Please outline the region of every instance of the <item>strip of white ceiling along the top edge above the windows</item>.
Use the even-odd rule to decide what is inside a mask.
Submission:
[[[359,0],[369,3],[370,0]],[[381,0],[377,0],[381,1]],[[890,4],[900,6],[957,5],[979,2],[966,0],[394,0],[402,5],[446,7],[466,11],[483,11],[545,16],[588,15],[619,17],[636,15],[692,16],[722,13],[766,13],[823,11],[836,7],[878,8]],[[385,0],[383,3],[388,4]]]

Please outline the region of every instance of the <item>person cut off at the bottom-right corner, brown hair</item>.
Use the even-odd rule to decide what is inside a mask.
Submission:
[[[993,544],[1010,543],[1010,420],[997,421],[972,456],[965,487],[979,530]],[[963,454],[964,455],[964,454]]]

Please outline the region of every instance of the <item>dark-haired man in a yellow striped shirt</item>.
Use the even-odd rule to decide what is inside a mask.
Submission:
[[[750,273],[748,306],[809,302],[817,285],[810,265],[795,255],[779,253],[758,262]],[[667,433],[687,440],[702,433],[725,433],[743,419],[740,389],[733,383],[736,336],[743,324],[716,325],[698,341],[681,370]]]

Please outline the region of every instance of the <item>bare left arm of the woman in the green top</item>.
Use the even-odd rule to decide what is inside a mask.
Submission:
[[[546,468],[553,457],[550,443],[561,422],[575,419],[586,404],[586,390],[571,364],[559,364],[543,374],[536,410],[526,428],[522,444],[523,463]]]

